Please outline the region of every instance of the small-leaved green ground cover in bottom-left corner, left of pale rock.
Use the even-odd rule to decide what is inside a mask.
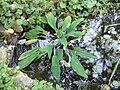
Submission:
[[[7,65],[0,64],[0,90],[22,90],[18,85],[15,85],[12,79],[18,72],[18,69],[9,68]]]

